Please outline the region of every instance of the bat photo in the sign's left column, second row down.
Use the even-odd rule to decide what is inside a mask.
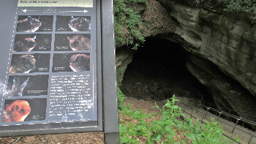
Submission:
[[[50,51],[51,34],[16,34],[12,52]]]

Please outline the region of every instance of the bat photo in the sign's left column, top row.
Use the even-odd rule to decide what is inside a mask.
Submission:
[[[19,15],[16,32],[53,31],[53,15]]]

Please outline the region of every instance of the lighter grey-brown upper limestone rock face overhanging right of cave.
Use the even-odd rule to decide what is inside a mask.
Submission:
[[[184,48],[210,60],[256,96],[256,41],[246,37],[246,31],[256,34],[249,20],[242,15],[211,12],[172,0],[162,2],[178,21],[174,33],[180,36],[178,40]]]

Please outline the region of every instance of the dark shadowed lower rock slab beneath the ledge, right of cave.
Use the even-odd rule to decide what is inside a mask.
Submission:
[[[256,115],[256,97],[246,91],[240,83],[224,75],[211,62],[192,54],[188,58],[186,67],[200,83],[210,89],[214,102],[220,110],[228,112],[223,107],[233,109],[241,117],[255,121],[255,117],[250,115]]]

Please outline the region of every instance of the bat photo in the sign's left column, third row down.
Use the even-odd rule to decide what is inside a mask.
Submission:
[[[13,54],[10,73],[49,72],[50,53]]]

